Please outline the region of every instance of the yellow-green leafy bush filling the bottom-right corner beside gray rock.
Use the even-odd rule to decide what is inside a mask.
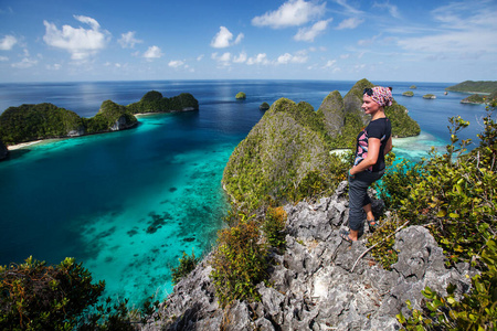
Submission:
[[[402,312],[396,316],[406,330],[496,330],[497,329],[497,245],[496,235],[491,237],[488,226],[479,228],[486,238],[485,249],[479,258],[483,261],[480,275],[472,278],[472,290],[457,301],[455,286],[447,287],[443,297],[426,287],[422,293],[426,298],[424,309],[412,309],[412,317]]]

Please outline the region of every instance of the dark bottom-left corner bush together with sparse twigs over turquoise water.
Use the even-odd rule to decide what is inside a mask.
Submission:
[[[1,330],[136,330],[159,302],[146,300],[141,310],[129,310],[128,300],[101,301],[105,282],[74,258],[47,266],[29,257],[24,264],[0,267]]]

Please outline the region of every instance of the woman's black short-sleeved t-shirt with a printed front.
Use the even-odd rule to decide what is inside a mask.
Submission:
[[[380,139],[380,154],[377,163],[366,169],[367,171],[378,172],[384,169],[384,147],[392,135],[392,124],[387,117],[370,121],[370,124],[357,136],[356,159],[353,166],[362,162],[368,156],[368,139]]]

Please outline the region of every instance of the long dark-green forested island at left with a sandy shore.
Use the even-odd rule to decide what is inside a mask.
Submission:
[[[80,117],[53,104],[24,104],[9,107],[0,115],[0,141],[10,146],[40,139],[110,132],[135,127],[138,122],[136,114],[198,109],[199,102],[189,93],[167,98],[157,90],[148,92],[139,102],[128,106],[105,100],[91,118]]]

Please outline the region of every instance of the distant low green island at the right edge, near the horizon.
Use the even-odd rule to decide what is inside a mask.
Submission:
[[[462,104],[489,104],[497,99],[497,82],[495,81],[465,81],[445,90],[470,93],[470,96],[461,100]]]

